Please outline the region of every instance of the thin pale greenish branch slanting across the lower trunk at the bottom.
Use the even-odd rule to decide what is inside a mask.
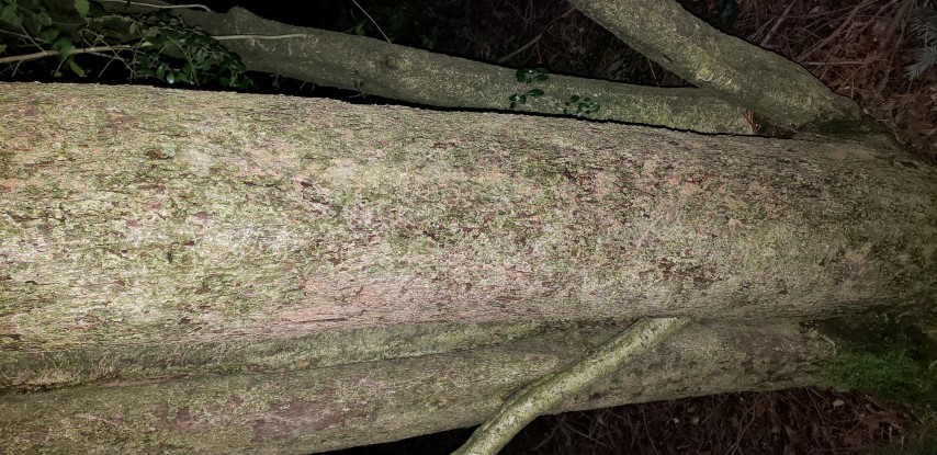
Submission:
[[[651,351],[689,322],[685,318],[644,318],[567,368],[544,376],[513,395],[498,412],[472,433],[453,455],[495,455],[524,425],[554,409],[564,398]]]

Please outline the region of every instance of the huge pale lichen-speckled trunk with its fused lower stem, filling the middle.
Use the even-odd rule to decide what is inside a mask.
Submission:
[[[0,452],[303,453],[813,383],[937,294],[937,175],[860,144],[142,87],[0,91]]]

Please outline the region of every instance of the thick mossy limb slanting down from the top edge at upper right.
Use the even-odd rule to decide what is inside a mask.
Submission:
[[[673,0],[569,0],[579,11],[668,71],[783,127],[858,120],[833,93],[783,57],[713,29]]]

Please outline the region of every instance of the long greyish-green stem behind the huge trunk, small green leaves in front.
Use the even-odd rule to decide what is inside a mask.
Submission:
[[[512,94],[541,89],[542,98],[519,112],[560,114],[572,95],[589,96],[600,109],[589,118],[707,133],[752,134],[744,107],[693,88],[657,88],[550,75],[520,83],[505,68],[346,33],[283,24],[242,8],[225,14],[183,11],[240,56],[252,71],[319,86],[360,91],[421,105],[505,111]]]

